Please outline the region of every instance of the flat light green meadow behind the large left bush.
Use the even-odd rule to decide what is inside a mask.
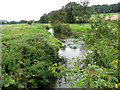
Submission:
[[[2,25],[2,38],[5,41],[6,39],[17,39],[18,37],[30,34],[48,34],[47,30],[44,29],[44,26],[40,24],[13,24],[13,25]]]

